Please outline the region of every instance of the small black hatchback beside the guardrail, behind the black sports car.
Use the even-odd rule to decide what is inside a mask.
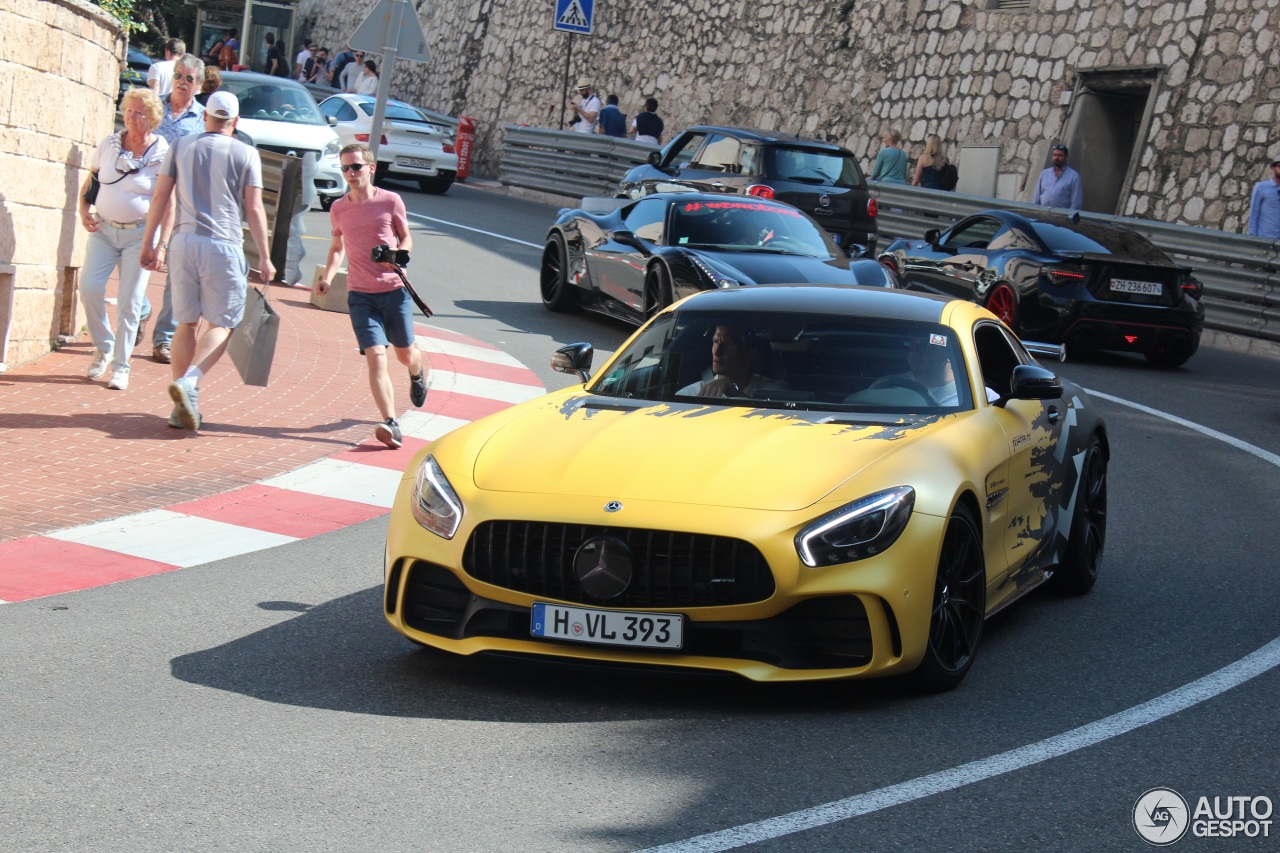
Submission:
[[[618,183],[639,199],[654,183],[776,199],[812,215],[851,255],[874,257],[876,200],[852,151],[777,131],[691,127]]]

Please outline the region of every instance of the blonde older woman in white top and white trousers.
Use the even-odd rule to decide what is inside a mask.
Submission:
[[[92,204],[81,193],[79,218],[90,232],[88,252],[81,275],[81,302],[88,319],[88,334],[96,352],[86,375],[97,379],[111,365],[108,388],[129,387],[129,356],[138,332],[138,316],[146,296],[147,277],[138,255],[142,232],[151,206],[160,161],[169,143],[155,129],[164,114],[160,99],[148,88],[131,88],[120,101],[124,131],[102,140],[93,154],[90,172],[97,178],[97,199]],[[86,188],[90,182],[86,182]],[[92,207],[92,210],[91,210]],[[168,237],[160,236],[160,247]],[[119,265],[120,287],[116,292],[116,328],[106,318],[106,280]]]

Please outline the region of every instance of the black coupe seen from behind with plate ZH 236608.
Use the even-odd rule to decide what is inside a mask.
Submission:
[[[1140,352],[1175,368],[1199,347],[1202,286],[1142,234],[1079,214],[983,210],[879,255],[910,289],[986,305],[1069,351]]]

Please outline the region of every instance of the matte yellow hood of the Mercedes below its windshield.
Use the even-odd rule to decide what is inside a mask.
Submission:
[[[829,412],[652,403],[579,393],[522,406],[483,439],[477,488],[794,511],[940,429],[819,423]],[[946,420],[946,419],[941,419]]]

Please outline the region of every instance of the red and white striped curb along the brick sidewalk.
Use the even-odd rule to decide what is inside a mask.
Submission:
[[[544,393],[502,350],[419,325],[430,393],[401,418],[404,444],[372,442],[200,501],[0,543],[0,603],[90,589],[297,542],[385,514],[410,459],[484,415]]]

